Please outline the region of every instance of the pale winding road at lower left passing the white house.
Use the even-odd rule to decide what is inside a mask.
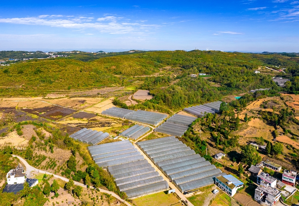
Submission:
[[[39,172],[39,173],[43,173],[43,174],[48,174],[48,175],[53,175],[54,177],[56,178],[59,178],[60,180],[63,180],[65,182],[68,182],[69,179],[65,178],[65,177],[62,177],[62,176],[59,176],[59,175],[55,175],[55,174],[52,174],[50,172],[47,172],[47,171],[43,171],[43,170],[39,170],[35,167],[32,167],[31,165],[28,164],[28,162],[26,160],[24,160],[23,158],[19,157],[19,156],[16,156],[16,155],[12,155],[13,157],[17,157],[23,165],[25,165],[26,167],[26,176],[27,177],[30,177],[31,176],[31,172]],[[75,182],[74,181],[74,184],[75,185],[79,185],[81,187],[85,187],[87,188],[87,186],[85,184],[82,184],[82,183],[79,183],[79,182]],[[108,190],[104,190],[104,189],[99,189],[100,192],[103,192],[103,193],[107,193],[107,194],[110,194],[111,196],[115,197],[116,199],[120,200],[122,203],[126,204],[127,206],[132,206],[130,203],[128,203],[126,200],[123,200],[121,199],[120,196],[118,196],[117,194],[115,194],[114,192],[111,192],[111,191],[108,191]]]

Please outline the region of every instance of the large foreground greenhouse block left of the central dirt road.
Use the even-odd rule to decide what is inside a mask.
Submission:
[[[169,189],[167,181],[128,140],[89,146],[88,151],[130,199]]]

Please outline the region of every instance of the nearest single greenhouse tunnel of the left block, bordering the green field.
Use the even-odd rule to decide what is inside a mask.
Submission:
[[[128,196],[128,198],[135,198],[146,194],[152,194],[159,191],[167,190],[169,188],[169,185],[167,181],[157,182],[153,184],[144,185],[141,187],[128,189],[123,192],[125,192]]]

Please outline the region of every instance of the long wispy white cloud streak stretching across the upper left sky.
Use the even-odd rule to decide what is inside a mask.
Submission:
[[[72,29],[95,29],[100,32],[111,34],[142,33],[148,32],[150,28],[158,28],[160,25],[144,24],[142,22],[128,22],[119,20],[123,17],[105,14],[104,17],[70,17],[63,15],[40,15],[37,17],[24,18],[0,18],[0,23],[23,24],[23,25],[41,25],[50,27],[63,27]],[[74,30],[76,31],[76,30]]]

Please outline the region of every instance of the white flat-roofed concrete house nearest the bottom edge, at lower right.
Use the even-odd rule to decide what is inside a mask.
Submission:
[[[273,206],[278,202],[281,191],[272,187],[258,186],[254,192],[254,200],[259,204]]]

